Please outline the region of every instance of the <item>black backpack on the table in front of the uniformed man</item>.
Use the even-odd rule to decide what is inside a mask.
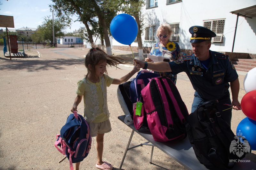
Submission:
[[[243,159],[245,153],[237,156],[230,151],[237,137],[221,117],[216,103],[218,100],[207,101],[191,113],[186,129],[196,158],[201,164],[208,169],[227,169],[233,167],[238,159]],[[245,149],[249,149],[247,153],[250,153],[251,147],[248,141],[245,142],[242,145],[247,147]]]

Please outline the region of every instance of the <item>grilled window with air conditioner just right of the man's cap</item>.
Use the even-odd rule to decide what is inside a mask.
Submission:
[[[225,26],[225,19],[216,19],[216,20],[205,20],[204,27],[212,30],[216,33],[216,37],[212,38],[212,42],[223,42],[223,33],[224,33],[224,26]]]

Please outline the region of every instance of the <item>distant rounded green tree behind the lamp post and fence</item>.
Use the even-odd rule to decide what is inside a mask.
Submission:
[[[61,19],[54,19],[54,42],[56,42],[57,37],[65,36],[66,27],[66,23],[62,22]],[[37,32],[32,34],[31,38],[35,42],[51,41],[53,43],[52,19],[50,19],[50,16],[44,17],[43,24],[38,26]]]

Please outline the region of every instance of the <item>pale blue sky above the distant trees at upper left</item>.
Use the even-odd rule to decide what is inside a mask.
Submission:
[[[19,29],[22,27],[37,28],[42,25],[44,17],[51,16],[49,4],[53,4],[51,0],[0,0],[0,15],[13,16],[14,27],[8,29]],[[72,18],[73,21],[76,17]],[[0,21],[1,22],[1,21]],[[71,28],[67,27],[66,33],[78,30],[84,26],[80,22],[72,22]],[[0,27],[5,29],[5,27]]]

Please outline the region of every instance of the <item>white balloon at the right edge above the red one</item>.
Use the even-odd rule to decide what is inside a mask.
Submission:
[[[244,90],[246,93],[256,90],[256,67],[248,71],[244,77]]]

